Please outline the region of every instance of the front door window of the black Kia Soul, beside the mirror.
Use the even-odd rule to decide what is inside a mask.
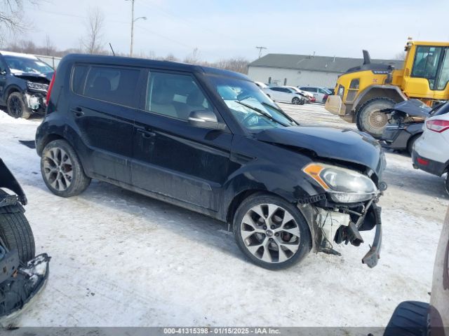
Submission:
[[[177,73],[151,72],[145,105],[147,111],[181,120],[192,111],[213,111],[196,80]]]

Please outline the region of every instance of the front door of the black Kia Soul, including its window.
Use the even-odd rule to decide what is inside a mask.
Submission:
[[[189,125],[192,111],[214,111],[221,120],[191,73],[149,71],[144,86],[145,99],[135,118],[133,184],[217,211],[232,134]]]

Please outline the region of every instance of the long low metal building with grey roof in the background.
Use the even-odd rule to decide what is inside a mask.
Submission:
[[[372,62],[403,68],[403,61],[397,59],[373,59]],[[268,54],[249,64],[248,76],[272,85],[335,87],[340,74],[362,64],[361,58]]]

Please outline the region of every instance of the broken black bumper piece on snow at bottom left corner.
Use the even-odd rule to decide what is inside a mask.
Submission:
[[[41,293],[48,279],[46,253],[20,265],[17,251],[0,246],[0,325],[7,327]]]

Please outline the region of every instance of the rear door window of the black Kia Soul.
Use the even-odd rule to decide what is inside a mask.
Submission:
[[[123,106],[137,105],[134,97],[140,70],[114,66],[86,68],[88,66],[74,68],[72,89],[75,93]]]

